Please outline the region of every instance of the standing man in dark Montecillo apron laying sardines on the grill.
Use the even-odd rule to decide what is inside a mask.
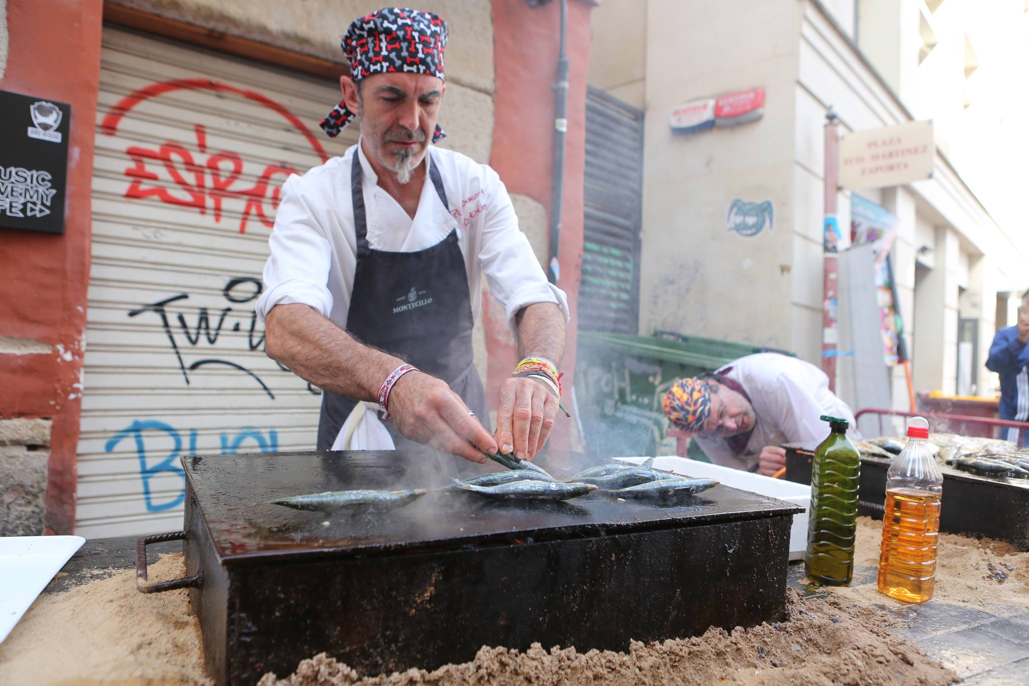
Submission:
[[[430,146],[443,136],[447,37],[425,11],[355,20],[342,42],[343,101],[321,125],[335,136],[359,117],[360,140],[282,187],[256,312],[269,357],[323,391],[318,449],[368,406],[396,447],[415,441],[476,463],[486,458],[468,441],[531,459],[554,426],[567,300],[496,172]],[[492,436],[472,365],[484,275],[523,358],[500,389]]]

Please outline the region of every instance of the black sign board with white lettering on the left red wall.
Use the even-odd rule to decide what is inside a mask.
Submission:
[[[71,105],[0,91],[0,226],[64,233]]]

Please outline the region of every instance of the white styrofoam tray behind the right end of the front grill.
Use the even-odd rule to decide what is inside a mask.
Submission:
[[[633,464],[640,464],[646,459],[618,458],[619,461],[632,462]],[[769,498],[778,498],[803,507],[804,513],[793,515],[793,527],[789,530],[789,558],[804,559],[804,552],[808,547],[808,510],[811,508],[810,485],[674,456],[655,458],[653,467],[676,474],[716,479],[733,489],[749,491]]]

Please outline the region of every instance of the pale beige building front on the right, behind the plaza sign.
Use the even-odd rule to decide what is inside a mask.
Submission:
[[[916,390],[994,394],[989,345],[1014,322],[1008,298],[1029,286],[1029,231],[1010,207],[1018,176],[996,171],[1029,153],[1024,97],[994,94],[997,74],[1025,64],[1029,14],[1022,2],[992,4],[1004,9],[974,22],[982,3],[963,0],[601,5],[590,85],[645,116],[639,333],[767,346],[819,364],[826,113],[841,137],[932,119],[931,177],[841,190],[839,225],[852,225],[852,206],[895,217],[891,259]],[[990,31],[1006,31],[1008,49],[988,49]],[[615,37],[618,50],[598,49]],[[748,88],[764,91],[757,120],[670,125],[680,105]],[[982,123],[1005,115],[1009,151],[989,146],[1000,135]],[[756,215],[746,225],[741,209]],[[838,389],[856,402],[848,355],[855,336],[879,332],[841,326]],[[902,368],[883,373],[889,402],[907,409]]]

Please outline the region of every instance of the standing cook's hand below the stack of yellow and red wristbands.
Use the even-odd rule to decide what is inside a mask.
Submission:
[[[511,376],[500,387],[497,444],[501,453],[532,460],[546,443],[558,413],[558,396],[532,376]]]

